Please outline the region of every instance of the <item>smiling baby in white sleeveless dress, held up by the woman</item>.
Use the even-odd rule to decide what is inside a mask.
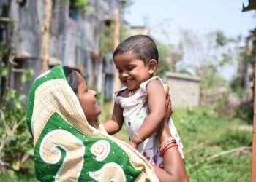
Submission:
[[[158,64],[157,46],[149,36],[131,36],[118,44],[113,59],[125,87],[113,95],[113,115],[105,122],[105,130],[113,135],[125,123],[129,144],[149,162],[163,167],[157,130],[165,117],[165,89],[162,79],[153,76]],[[171,119],[169,126],[173,141],[183,157],[181,139]]]

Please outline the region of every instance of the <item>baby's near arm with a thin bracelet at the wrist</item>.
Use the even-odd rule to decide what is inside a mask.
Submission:
[[[145,141],[154,132],[157,132],[163,119],[165,118],[165,90],[162,83],[154,79],[148,82],[146,86],[148,93],[148,116],[141,125],[140,129],[132,137],[129,142],[135,149],[137,149],[140,139]],[[139,139],[140,138],[140,139]]]

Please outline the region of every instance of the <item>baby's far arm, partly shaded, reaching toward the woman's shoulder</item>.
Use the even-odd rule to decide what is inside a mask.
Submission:
[[[104,123],[105,130],[108,132],[108,135],[114,135],[116,134],[116,132],[121,130],[123,123],[124,123],[123,108],[121,108],[121,106],[115,103],[112,119]]]

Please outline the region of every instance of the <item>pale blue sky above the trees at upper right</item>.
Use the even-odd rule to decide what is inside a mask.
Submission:
[[[179,30],[246,37],[256,27],[255,11],[241,12],[243,0],[132,0],[124,19],[129,25],[148,25],[159,41],[179,41]],[[162,36],[162,31],[169,34]]]

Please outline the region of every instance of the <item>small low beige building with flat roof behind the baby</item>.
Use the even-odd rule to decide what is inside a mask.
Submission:
[[[173,108],[198,106],[200,103],[200,81],[197,76],[167,73],[165,83],[170,87]]]

